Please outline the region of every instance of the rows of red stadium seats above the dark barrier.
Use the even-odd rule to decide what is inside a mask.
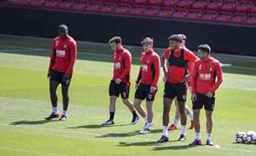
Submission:
[[[256,0],[16,0],[5,5],[256,26]]]

